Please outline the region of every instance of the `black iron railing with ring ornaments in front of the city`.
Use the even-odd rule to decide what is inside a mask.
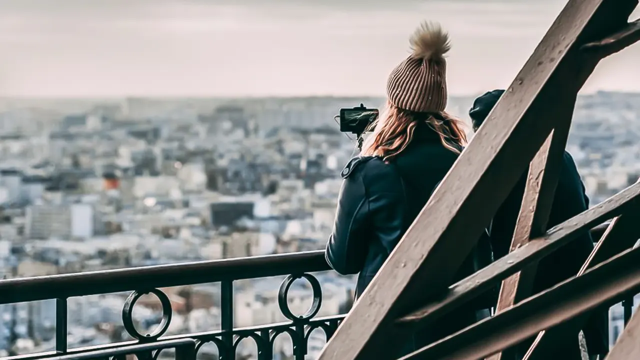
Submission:
[[[316,318],[323,293],[316,277],[310,273],[330,270],[323,251],[256,256],[251,258],[198,261],[172,265],[143,266],[119,270],[83,272],[77,274],[27,277],[0,281],[0,304],[56,300],[56,348],[49,352],[13,356],[5,359],[124,359],[135,354],[139,360],[156,360],[163,349],[175,349],[177,359],[194,358],[207,343],[218,348],[221,360],[236,359],[239,343],[252,339],[257,347],[258,359],[273,359],[273,343],[281,334],[288,334],[292,342],[294,359],[307,355],[307,343],[312,331],[321,329],[330,338],[344,315]],[[234,281],[287,275],[278,291],[278,307],[288,322],[271,323],[234,329]],[[287,295],[292,282],[305,279],[313,292],[310,309],[296,316],[289,309]],[[220,282],[221,329],[163,336],[172,320],[172,303],[161,288]],[[125,331],[134,339],[94,347],[68,348],[67,300],[70,297],[101,295],[131,291],[122,309]],[[150,334],[139,332],[134,324],[132,309],[145,294],[155,295],[161,303],[162,320]],[[178,341],[178,342],[167,342]],[[181,341],[181,342],[180,342]],[[189,350],[189,341],[193,349]]]

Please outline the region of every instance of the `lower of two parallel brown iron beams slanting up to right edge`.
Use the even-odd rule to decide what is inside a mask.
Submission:
[[[495,354],[621,295],[640,291],[640,247],[589,269],[492,318],[424,347],[402,360],[477,360]],[[577,339],[576,339],[577,341]],[[548,359],[554,359],[550,357]]]

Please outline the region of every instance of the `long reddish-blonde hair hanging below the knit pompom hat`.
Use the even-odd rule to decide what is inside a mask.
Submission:
[[[361,154],[391,160],[406,149],[420,122],[431,127],[440,136],[442,145],[453,152],[460,153],[461,147],[467,145],[463,122],[445,111],[417,113],[387,104],[386,110],[372,124],[374,131],[365,140]]]

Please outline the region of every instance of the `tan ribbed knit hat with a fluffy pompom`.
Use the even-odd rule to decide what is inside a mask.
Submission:
[[[388,100],[398,108],[437,113],[447,107],[449,35],[440,24],[423,22],[410,38],[412,54],[391,72]]]

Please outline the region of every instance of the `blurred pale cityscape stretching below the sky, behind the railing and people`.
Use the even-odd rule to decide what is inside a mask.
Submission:
[[[0,99],[0,275],[324,249],[339,172],[355,154],[353,135],[340,133],[334,116],[343,107],[380,107],[383,101]],[[449,110],[467,121],[472,101],[452,97]],[[640,94],[579,97],[567,149],[592,206],[635,183]],[[331,272],[318,278],[324,295],[319,316],[348,311],[353,279]],[[236,282],[234,325],[284,321],[276,300],[280,281]],[[310,291],[299,290],[291,291],[290,301],[305,310]],[[220,328],[218,284],[167,293],[174,310],[168,334]],[[125,340],[126,295],[69,299],[69,347]],[[138,304],[140,329],[154,327],[157,304]],[[2,356],[54,348],[54,300],[0,306],[0,316]],[[612,341],[621,317],[614,307]],[[310,358],[323,341],[312,340],[317,346],[310,344]],[[214,353],[205,347],[198,356],[216,359]],[[276,344],[274,356],[291,358],[291,345]]]

